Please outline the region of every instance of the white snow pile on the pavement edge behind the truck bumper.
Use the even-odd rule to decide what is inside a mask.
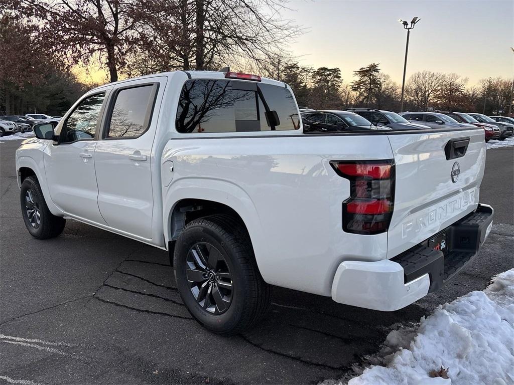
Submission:
[[[391,332],[383,351],[397,349],[381,360],[387,367],[366,369],[348,385],[514,384],[514,269],[483,292],[439,305],[417,331]],[[436,372],[443,376],[431,377]]]

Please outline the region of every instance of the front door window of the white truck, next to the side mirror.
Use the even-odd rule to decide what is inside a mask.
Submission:
[[[100,109],[102,108],[105,92],[91,95],[84,99],[66,119],[59,133],[60,143],[77,140],[92,140],[95,138]]]

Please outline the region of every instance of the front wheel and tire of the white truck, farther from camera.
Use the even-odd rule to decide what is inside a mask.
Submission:
[[[57,237],[63,232],[66,219],[50,213],[38,178],[35,176],[23,180],[20,203],[23,221],[32,237],[48,239]]]

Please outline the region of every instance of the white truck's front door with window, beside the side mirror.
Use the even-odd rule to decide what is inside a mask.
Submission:
[[[66,214],[106,224],[98,209],[94,152],[106,91],[90,94],[58,127],[44,151],[50,197]]]

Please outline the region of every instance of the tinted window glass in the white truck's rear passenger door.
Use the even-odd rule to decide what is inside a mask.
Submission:
[[[156,86],[121,89],[107,123],[107,138],[137,138],[149,127]]]

